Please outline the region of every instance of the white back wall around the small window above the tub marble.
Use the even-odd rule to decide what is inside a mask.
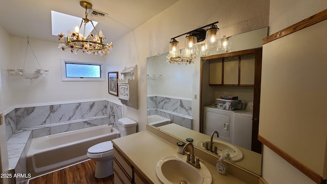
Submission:
[[[61,81],[60,59],[77,59],[83,61],[102,61],[105,57],[92,56],[78,53],[72,54],[69,50],[62,52],[57,49],[57,42],[29,39],[30,45],[43,70],[50,70],[48,74],[33,80],[22,79],[17,76],[6,77],[12,105],[49,103],[84,99],[104,98],[107,90],[106,81]],[[10,37],[11,56],[7,64],[8,68],[22,68],[26,53],[27,38]],[[39,68],[38,63],[28,49],[25,71],[34,71]],[[5,68],[7,69],[7,68]],[[8,76],[5,70],[5,75]],[[3,74],[4,75],[4,74]],[[4,96],[7,96],[4,94]],[[9,107],[10,107],[9,106]]]

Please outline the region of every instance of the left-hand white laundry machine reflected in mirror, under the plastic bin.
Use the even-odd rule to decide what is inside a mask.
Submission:
[[[214,131],[218,131],[218,139],[233,144],[235,112],[219,107],[203,107],[203,133],[211,136]]]

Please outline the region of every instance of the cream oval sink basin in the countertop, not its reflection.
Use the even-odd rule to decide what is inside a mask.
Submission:
[[[186,163],[186,155],[174,154],[161,158],[155,172],[162,183],[170,184],[185,181],[186,183],[212,183],[212,175],[209,170],[201,164],[197,169]]]

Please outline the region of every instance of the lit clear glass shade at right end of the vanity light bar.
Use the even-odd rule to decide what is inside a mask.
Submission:
[[[206,30],[205,45],[208,49],[218,49],[220,45],[220,31],[216,25],[211,25]]]

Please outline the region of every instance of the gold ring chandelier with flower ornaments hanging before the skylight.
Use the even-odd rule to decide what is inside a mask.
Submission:
[[[58,48],[61,48],[62,51],[65,51],[65,49],[70,49],[74,54],[77,54],[78,50],[81,50],[83,53],[87,54],[99,54],[100,56],[108,54],[112,50],[112,42],[104,44],[103,40],[106,40],[106,38],[102,31],[100,30],[98,33],[95,26],[93,25],[92,20],[87,18],[87,9],[91,9],[92,4],[81,1],[80,5],[81,7],[85,8],[85,18],[82,18],[80,27],[75,27],[75,31],[67,32],[66,39],[64,38],[64,34],[60,33],[58,35],[58,41],[60,42]],[[90,32],[85,36],[85,27],[88,22],[91,23],[96,33],[93,34]],[[80,31],[83,24],[84,31],[81,33]]]

